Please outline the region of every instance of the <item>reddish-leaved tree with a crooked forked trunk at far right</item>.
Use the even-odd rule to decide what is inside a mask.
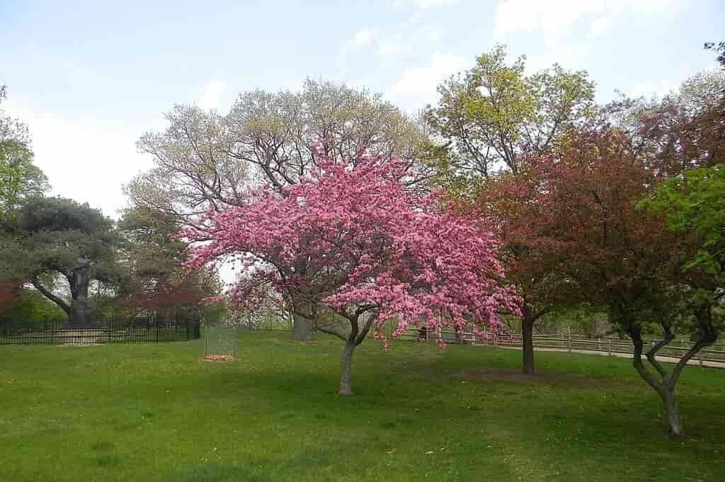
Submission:
[[[662,215],[638,208],[656,181],[628,136],[592,126],[568,149],[538,159],[526,178],[510,181],[520,217],[510,236],[537,253],[537,267],[561,273],[589,303],[608,308],[633,341],[634,367],[662,399],[671,433],[680,435],[676,383],[687,361],[716,341],[721,324],[713,304],[693,298],[692,278],[684,275],[696,246],[668,230]],[[646,351],[645,333],[661,335]],[[655,355],[678,334],[695,344],[668,371]]]

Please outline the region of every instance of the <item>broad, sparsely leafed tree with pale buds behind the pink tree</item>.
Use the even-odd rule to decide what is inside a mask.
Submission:
[[[379,94],[322,80],[307,80],[297,92],[246,92],[226,115],[178,105],[167,120],[164,132],[138,141],[155,166],[127,192],[134,207],[181,224],[210,208],[243,204],[250,186],[282,191],[297,183],[316,165],[318,142],[326,156],[355,159],[370,151],[408,159],[418,168],[411,181],[427,174],[421,159],[428,138],[418,122]],[[311,331],[311,320],[297,315],[294,338],[307,339]]]

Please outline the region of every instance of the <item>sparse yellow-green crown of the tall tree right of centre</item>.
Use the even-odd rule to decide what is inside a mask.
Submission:
[[[449,153],[442,176],[452,191],[501,170],[517,173],[527,158],[565,142],[568,130],[592,114],[594,83],[587,72],[559,65],[525,75],[525,57],[506,62],[504,46],[476,59],[463,75],[446,80],[425,118]]]

